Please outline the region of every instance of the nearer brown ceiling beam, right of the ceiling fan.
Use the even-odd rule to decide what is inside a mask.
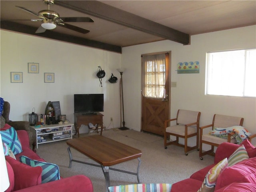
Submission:
[[[190,35],[96,0],[55,0],[54,4],[187,45]]]

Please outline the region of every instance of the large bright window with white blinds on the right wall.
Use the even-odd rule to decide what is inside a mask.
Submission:
[[[206,94],[256,97],[256,49],[206,53]]]

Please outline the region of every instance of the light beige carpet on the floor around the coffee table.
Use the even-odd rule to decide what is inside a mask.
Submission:
[[[184,148],[182,147],[171,145],[164,149],[162,137],[144,132],[134,130],[114,131],[111,129],[104,131],[103,135],[142,150],[142,163],[139,171],[140,182],[142,183],[173,184],[189,178],[192,173],[214,162],[214,157],[212,156],[204,156],[204,160],[200,160],[197,150],[188,152],[188,156],[185,156]],[[81,134],[81,136],[90,136],[90,134]],[[143,139],[140,140],[140,138]],[[47,162],[58,164],[62,177],[84,174],[92,180],[95,192],[104,192],[106,186],[102,169],[77,162],[72,162],[72,167],[68,168],[69,156],[67,147],[66,140],[40,144],[37,153]],[[106,148],[106,150],[108,149]],[[71,152],[76,160],[96,163],[72,148]],[[136,172],[137,166],[138,160],[135,159],[112,167]],[[137,183],[136,176],[110,170],[110,184],[112,186],[134,183]]]

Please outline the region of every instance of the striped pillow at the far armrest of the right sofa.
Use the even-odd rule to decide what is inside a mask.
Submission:
[[[228,158],[228,166],[231,167],[234,164],[248,159],[248,153],[244,147],[244,145],[241,145],[240,147],[237,148],[237,150],[235,150],[235,152]]]

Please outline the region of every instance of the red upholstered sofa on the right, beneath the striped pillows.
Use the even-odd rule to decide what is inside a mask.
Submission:
[[[229,158],[240,146],[244,145],[249,158],[244,159],[232,166],[225,167],[216,177],[216,183],[210,190],[202,189],[206,174],[216,167],[216,165]],[[244,140],[241,145],[224,142],[216,150],[214,164],[207,166],[190,176],[190,178],[172,184],[171,192],[197,192],[214,191],[214,192],[234,192],[234,191],[256,191],[256,148],[248,141]],[[238,152],[239,153],[239,152]],[[238,154],[238,156],[241,154]]]

